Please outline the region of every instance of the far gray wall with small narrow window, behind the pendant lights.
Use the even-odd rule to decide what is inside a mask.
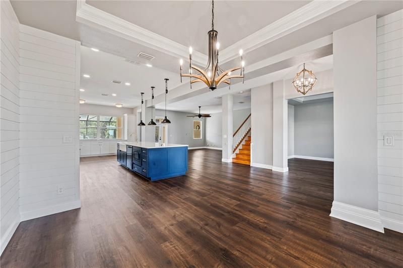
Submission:
[[[165,116],[164,110],[156,110],[155,113],[156,116]],[[168,125],[168,142],[187,144],[189,147],[204,147],[206,142],[206,119],[186,117],[187,115],[189,113],[167,111],[167,117],[171,121],[171,124]],[[201,139],[193,139],[193,121],[201,121]],[[146,126],[146,128],[154,127]]]

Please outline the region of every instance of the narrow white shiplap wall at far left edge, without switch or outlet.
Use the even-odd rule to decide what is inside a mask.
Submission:
[[[19,22],[10,2],[0,1],[0,239],[1,252],[20,223]]]

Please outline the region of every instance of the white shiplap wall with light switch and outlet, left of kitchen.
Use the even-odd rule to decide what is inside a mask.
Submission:
[[[79,86],[80,43],[20,25],[22,221],[80,207]]]

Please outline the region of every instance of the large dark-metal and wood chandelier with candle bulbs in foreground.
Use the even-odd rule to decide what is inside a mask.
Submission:
[[[217,42],[218,32],[214,30],[214,0],[212,1],[211,28],[211,31],[207,33],[209,36],[209,57],[206,68],[201,69],[195,65],[192,65],[193,49],[192,47],[189,47],[189,73],[182,73],[183,60],[180,59],[180,81],[182,82],[182,77],[188,76],[190,77],[190,88],[192,88],[192,83],[204,82],[212,91],[214,91],[222,82],[231,86],[231,78],[242,78],[243,83],[245,62],[242,60],[242,49],[239,50],[239,56],[241,57],[239,67],[234,67],[224,71],[218,65],[220,43]],[[193,73],[193,70],[195,70],[195,73]],[[240,73],[237,75],[232,74],[232,72],[236,70],[240,70]]]

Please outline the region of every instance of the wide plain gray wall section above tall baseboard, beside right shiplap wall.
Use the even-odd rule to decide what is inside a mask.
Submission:
[[[376,16],[333,32],[334,201],[378,211]]]

